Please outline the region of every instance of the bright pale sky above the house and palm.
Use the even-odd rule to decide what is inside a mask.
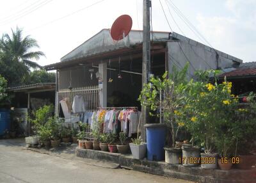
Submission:
[[[38,40],[41,51],[47,56],[38,63],[48,65],[60,61],[62,56],[101,29],[111,28],[119,15],[131,15],[132,29],[142,28],[142,0],[105,0],[74,13],[97,1],[99,0],[1,1],[4,10],[0,12],[0,34],[10,33],[10,29],[15,26],[23,28],[24,35],[31,35]],[[253,55],[256,45],[255,0],[166,1],[172,1],[215,49],[241,58],[244,62],[256,61]],[[168,12],[166,1],[161,0],[161,3],[173,31],[181,33],[181,29],[189,38],[204,43],[169,5],[175,21],[179,24],[180,29],[177,28]],[[33,11],[33,7],[37,7],[37,10]],[[69,16],[65,17],[66,15]],[[62,17],[65,18],[61,19]],[[170,31],[159,0],[152,0],[152,22],[155,31]]]

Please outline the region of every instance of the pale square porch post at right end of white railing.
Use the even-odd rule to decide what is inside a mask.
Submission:
[[[101,89],[99,92],[100,107],[107,107],[107,63],[99,63],[99,74],[99,88]]]

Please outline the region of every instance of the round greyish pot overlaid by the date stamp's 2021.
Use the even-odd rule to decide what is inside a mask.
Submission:
[[[217,168],[218,154],[205,154],[201,153],[201,168],[216,169]]]

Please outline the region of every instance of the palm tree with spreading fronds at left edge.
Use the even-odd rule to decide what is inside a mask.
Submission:
[[[8,85],[26,83],[31,68],[42,68],[33,60],[45,56],[36,40],[30,36],[22,36],[22,29],[12,29],[12,35],[4,33],[0,38],[0,72],[8,80]]]

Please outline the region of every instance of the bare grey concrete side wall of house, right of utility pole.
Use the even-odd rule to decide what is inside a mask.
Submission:
[[[234,63],[232,58],[228,58],[227,54],[225,57],[222,52],[218,52],[218,58],[214,49],[190,39],[170,40],[167,42],[167,47],[169,72],[172,72],[173,65],[177,68],[183,68],[188,62],[190,62],[190,76],[194,74],[195,70],[217,69],[217,61],[221,69],[232,67]]]

